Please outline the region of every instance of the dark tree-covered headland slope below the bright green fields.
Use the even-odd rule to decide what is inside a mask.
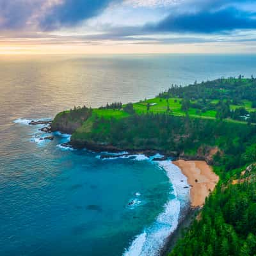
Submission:
[[[244,154],[256,143],[256,127],[164,114],[94,117],[72,134],[71,143],[101,145],[101,150],[108,145],[116,150],[159,150],[171,156],[196,156],[199,148],[218,146],[223,156],[215,156],[215,162],[231,169],[247,161]]]

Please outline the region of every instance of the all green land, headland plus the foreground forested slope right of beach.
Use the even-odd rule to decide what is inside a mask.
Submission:
[[[221,78],[172,86],[134,104],[70,109],[52,128],[72,133],[74,147],[185,159],[207,159],[218,148],[211,164],[220,182],[170,256],[256,255],[255,99],[254,77]]]

